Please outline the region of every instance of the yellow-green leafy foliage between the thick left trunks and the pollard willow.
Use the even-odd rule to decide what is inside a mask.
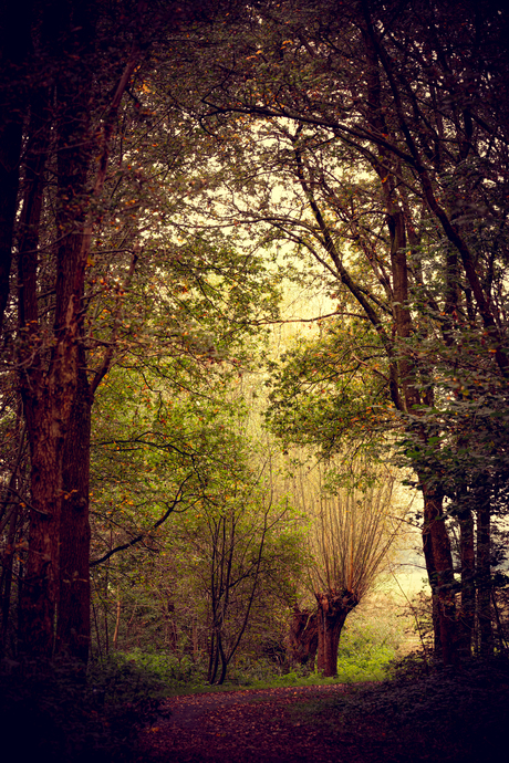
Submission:
[[[166,650],[175,672],[177,661],[201,666],[218,634],[228,659],[239,644],[260,651],[267,633],[279,638],[303,526],[236,382],[237,370],[231,378],[207,367],[197,379],[159,359],[117,367],[100,390],[93,550],[105,558],[93,566],[95,655],[112,644]]]

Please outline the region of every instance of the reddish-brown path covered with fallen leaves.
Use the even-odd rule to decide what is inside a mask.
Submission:
[[[364,763],[355,734],[328,718],[328,700],[347,691],[345,684],[332,684],[174,697],[145,730],[139,760]],[[324,712],[307,718],[311,702],[323,703]]]

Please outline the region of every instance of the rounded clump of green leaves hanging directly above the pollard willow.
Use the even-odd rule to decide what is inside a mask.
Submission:
[[[345,443],[376,452],[374,435],[392,414],[386,358],[367,324],[330,322],[322,336],[299,339],[270,368],[267,422],[283,443],[314,446],[326,457]]]

